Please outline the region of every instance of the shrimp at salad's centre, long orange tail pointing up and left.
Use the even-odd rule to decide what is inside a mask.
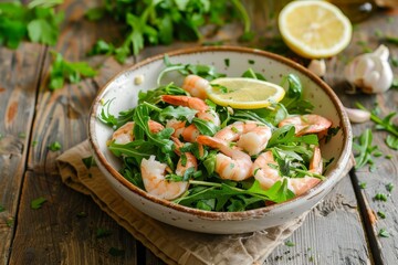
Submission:
[[[241,181],[252,176],[252,161],[248,153],[232,149],[228,142],[210,136],[201,135],[197,141],[221,151],[216,155],[214,169],[221,179]]]

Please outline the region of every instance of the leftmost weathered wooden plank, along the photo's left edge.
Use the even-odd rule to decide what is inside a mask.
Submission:
[[[0,47],[0,261],[8,259],[45,49]]]

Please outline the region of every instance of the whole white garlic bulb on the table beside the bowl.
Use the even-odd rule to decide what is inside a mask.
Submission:
[[[388,63],[389,50],[380,45],[373,53],[356,56],[344,70],[345,77],[363,92],[383,93],[392,84],[392,70]]]

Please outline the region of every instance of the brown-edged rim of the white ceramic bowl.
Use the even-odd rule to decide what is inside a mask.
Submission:
[[[248,53],[248,54],[254,54],[260,56],[265,56],[271,60],[277,61],[279,63],[285,64],[289,67],[292,67],[296,70],[297,72],[301,72],[303,75],[307,76],[312,82],[314,82],[318,87],[321,87],[331,98],[334,106],[337,109],[337,114],[341,119],[341,124],[338,125],[343,129],[343,138],[344,138],[344,145],[342,149],[342,155],[336,161],[336,167],[332,169],[328,173],[328,178],[326,180],[321,181],[317,186],[315,186],[313,189],[308,190],[307,192],[293,198],[292,200],[276,203],[263,208],[258,208],[253,210],[242,211],[242,212],[211,212],[211,211],[205,211],[193,208],[188,208],[185,205],[180,205],[177,203],[174,203],[172,201],[167,201],[164,199],[156,198],[154,195],[150,195],[146,191],[139,189],[138,187],[130,183],[128,180],[126,180],[109,162],[107,162],[104,153],[100,150],[100,147],[96,145],[97,139],[95,136],[95,124],[97,123],[97,109],[101,107],[101,99],[104,95],[104,93],[107,91],[111,83],[113,83],[115,80],[117,80],[123,74],[140,68],[151,62],[163,60],[165,54],[167,54],[169,57],[178,56],[178,55],[189,55],[189,54],[198,54],[198,53],[207,53],[207,52],[232,52],[232,53]],[[300,65],[298,63],[283,57],[281,55],[266,52],[259,49],[251,49],[251,47],[243,47],[243,46],[229,46],[229,45],[221,45],[221,46],[196,46],[196,47],[187,47],[187,49],[179,49],[174,50],[171,52],[165,52],[160,53],[154,56],[149,56],[136,64],[133,64],[132,66],[124,68],[116,73],[105,85],[101,87],[101,89],[97,92],[97,95],[91,106],[90,109],[90,116],[88,116],[88,142],[91,146],[91,149],[93,151],[93,155],[95,159],[107,170],[113,178],[115,178],[122,186],[127,188],[129,191],[136,193],[139,197],[143,197],[146,200],[149,200],[154,203],[160,204],[163,206],[176,210],[178,212],[184,212],[188,214],[195,214],[201,219],[208,219],[208,220],[232,220],[232,221],[241,221],[247,219],[252,219],[253,215],[261,216],[264,215],[271,211],[283,211],[283,209],[291,204],[296,204],[300,201],[303,200],[311,200],[312,198],[317,197],[324,189],[326,189],[326,186],[329,184],[331,181],[333,181],[331,184],[335,184],[337,182],[336,178],[338,178],[338,174],[343,173],[344,169],[346,168],[346,165],[342,165],[342,162],[349,163],[349,159],[352,157],[352,141],[353,141],[353,132],[350,123],[348,120],[348,116],[344,110],[344,106],[337,95],[334,93],[334,91],[318,76],[313,74],[311,71],[305,68],[304,66]]]

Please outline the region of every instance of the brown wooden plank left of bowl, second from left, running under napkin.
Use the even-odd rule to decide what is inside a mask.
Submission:
[[[107,21],[98,24],[83,19],[93,2],[64,1],[61,9],[67,21],[56,47],[49,50],[62,53],[72,62],[102,63],[103,57],[87,59],[85,54],[97,39],[112,36],[115,28]],[[23,181],[10,264],[136,264],[135,240],[90,198],[62,184],[55,167],[55,158],[62,151],[86,139],[88,109],[101,84],[87,78],[50,92],[50,68],[51,55],[46,53],[31,136],[32,142],[36,144],[29,152],[29,171]],[[97,80],[104,83],[105,77],[101,76],[117,68],[108,66],[106,72],[100,71]],[[60,151],[49,150],[54,141],[61,144]],[[39,197],[44,197],[48,202],[33,211],[30,202]],[[86,212],[87,218],[78,220],[76,213],[80,211]],[[102,227],[112,231],[112,235],[96,239],[96,231]],[[111,247],[124,250],[125,254],[113,257],[108,254]]]

